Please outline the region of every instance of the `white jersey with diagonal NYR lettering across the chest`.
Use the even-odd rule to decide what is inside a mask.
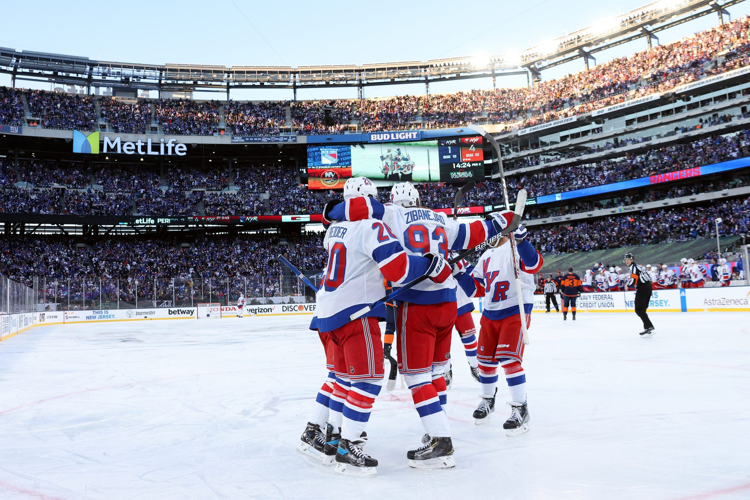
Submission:
[[[528,241],[521,241],[515,253],[520,268],[523,310],[528,314],[534,306],[534,274],[541,269],[544,259]],[[504,319],[518,314],[514,281],[509,241],[482,253],[471,274],[458,275],[458,284],[466,295],[484,297],[481,315],[487,319]]]

